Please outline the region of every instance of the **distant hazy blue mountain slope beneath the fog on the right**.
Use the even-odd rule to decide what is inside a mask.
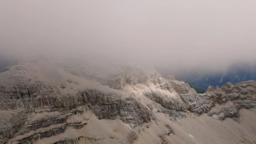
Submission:
[[[169,74],[175,75],[177,80],[189,83],[199,93],[204,93],[211,85],[216,87],[225,85],[227,82],[236,84],[247,80],[256,80],[256,65],[245,63],[234,64],[220,71],[190,69],[172,72],[171,70],[160,69],[160,72],[164,77],[168,77]]]

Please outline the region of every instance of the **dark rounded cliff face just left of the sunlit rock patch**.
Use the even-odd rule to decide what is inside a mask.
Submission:
[[[89,103],[99,119],[115,119],[117,115],[120,120],[131,124],[132,127],[147,123],[154,119],[152,112],[131,98],[123,99],[122,96],[111,93],[101,93],[88,90],[82,93],[85,103]]]

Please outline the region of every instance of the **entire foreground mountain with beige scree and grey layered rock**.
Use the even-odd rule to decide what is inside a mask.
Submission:
[[[0,72],[0,144],[256,142],[256,81],[209,87],[155,69],[34,61]]]

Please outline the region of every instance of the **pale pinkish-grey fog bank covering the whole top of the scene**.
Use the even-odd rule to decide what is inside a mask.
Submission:
[[[255,0],[1,0],[0,56],[184,69],[256,61]]]

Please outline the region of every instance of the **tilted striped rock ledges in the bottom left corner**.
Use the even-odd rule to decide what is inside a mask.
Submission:
[[[80,129],[87,124],[86,120],[67,122],[68,118],[74,114],[65,113],[67,111],[64,109],[63,111],[59,109],[43,112],[20,111],[9,121],[2,118],[0,119],[0,142],[7,144],[33,143],[37,139],[64,133],[68,127]]]

